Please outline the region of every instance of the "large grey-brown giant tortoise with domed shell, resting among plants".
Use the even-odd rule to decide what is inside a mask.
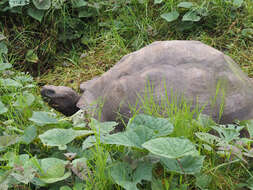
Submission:
[[[81,95],[69,87],[45,85],[41,95],[66,116],[84,109],[100,121],[116,120],[118,114],[130,117],[130,105],[139,109],[145,96],[161,104],[162,99],[171,101],[172,94],[219,123],[253,118],[251,79],[232,58],[199,41],[153,42],[80,89]],[[100,114],[88,108],[100,108]]]

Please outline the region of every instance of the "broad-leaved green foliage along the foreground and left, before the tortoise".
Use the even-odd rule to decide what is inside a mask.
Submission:
[[[180,113],[177,109],[178,113],[170,114],[169,118],[135,114],[125,131],[116,134],[111,133],[116,122],[100,123],[91,118],[87,125],[84,116],[79,115],[82,111],[71,118],[59,118],[50,111],[35,111],[38,107],[45,109],[34,95],[36,85],[29,76],[12,70],[5,53],[1,56],[0,71],[3,74],[0,80],[7,81],[1,82],[0,98],[3,125],[0,183],[5,189],[28,184],[36,188],[60,185],[60,189],[101,189],[99,182],[105,184],[105,189],[155,186],[205,189],[213,187],[216,174],[210,171],[238,167],[238,163],[245,170],[248,158],[252,157],[252,140],[239,137],[241,130],[248,130],[252,136],[251,122],[242,126],[217,125],[201,114],[197,119],[187,116],[191,114],[186,107],[181,110],[185,114],[177,115]],[[170,109],[175,108],[170,105]],[[191,130],[188,135],[177,136],[180,134],[175,133],[177,121],[182,116],[188,118],[182,121],[194,125],[194,134],[199,140],[190,136]],[[217,135],[207,133],[209,129]],[[78,143],[81,139],[82,145]],[[29,152],[25,153],[22,147]],[[217,163],[210,169],[204,167],[210,161]],[[159,182],[161,171],[164,184]],[[242,186],[250,187],[250,178],[244,179]]]

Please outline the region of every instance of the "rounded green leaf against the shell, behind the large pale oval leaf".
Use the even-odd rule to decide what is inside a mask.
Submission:
[[[138,125],[152,129],[154,131],[154,138],[167,136],[171,134],[174,129],[173,124],[168,119],[139,114],[128,122],[127,130],[131,128],[134,129]]]

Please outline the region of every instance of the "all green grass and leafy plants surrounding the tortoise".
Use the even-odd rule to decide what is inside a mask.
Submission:
[[[38,95],[156,40],[200,40],[252,76],[252,21],[252,0],[2,0],[0,189],[253,189],[252,121],[223,126],[173,102],[160,115],[144,99],[111,134],[116,122],[64,117]]]

